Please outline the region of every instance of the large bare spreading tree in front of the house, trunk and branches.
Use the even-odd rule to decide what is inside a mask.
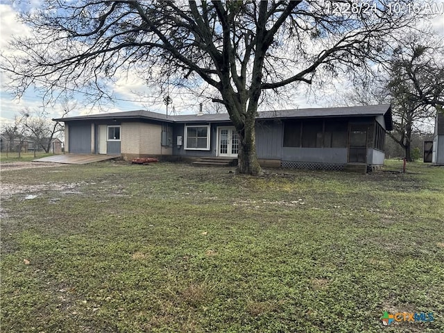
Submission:
[[[33,86],[46,97],[76,89],[105,98],[121,70],[160,87],[211,87],[239,135],[239,172],[258,174],[262,93],[379,60],[388,37],[423,16],[390,2],[46,0],[22,15],[33,35],[16,38],[11,47],[20,53],[1,67],[17,95]]]

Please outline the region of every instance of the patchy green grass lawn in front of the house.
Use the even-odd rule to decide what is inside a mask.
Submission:
[[[444,332],[442,167],[230,170],[2,172],[1,332]]]

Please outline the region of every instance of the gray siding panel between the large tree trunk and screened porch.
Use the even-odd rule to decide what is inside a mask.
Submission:
[[[257,158],[280,160],[282,156],[282,121],[257,122],[255,131]]]

